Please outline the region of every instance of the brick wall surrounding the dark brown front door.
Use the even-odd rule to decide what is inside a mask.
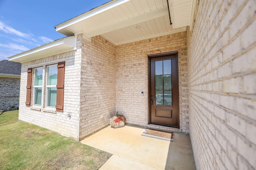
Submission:
[[[116,111],[127,123],[148,125],[148,55],[178,51],[180,131],[189,131],[186,48],[186,32],[116,46]]]

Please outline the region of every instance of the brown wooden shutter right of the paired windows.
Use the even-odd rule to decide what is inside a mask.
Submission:
[[[63,112],[65,61],[58,63],[56,111]]]

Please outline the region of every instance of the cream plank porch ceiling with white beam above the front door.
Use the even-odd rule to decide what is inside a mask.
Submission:
[[[82,32],[90,40],[101,35],[120,45],[186,31],[192,4],[193,0],[112,0],[55,27],[67,36]]]

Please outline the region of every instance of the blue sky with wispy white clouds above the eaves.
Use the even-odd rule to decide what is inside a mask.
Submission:
[[[0,0],[0,61],[65,35],[54,26],[110,0]]]

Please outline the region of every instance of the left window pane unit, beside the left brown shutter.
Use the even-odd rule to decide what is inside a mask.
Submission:
[[[34,73],[34,105],[42,104],[43,68],[35,68]]]

